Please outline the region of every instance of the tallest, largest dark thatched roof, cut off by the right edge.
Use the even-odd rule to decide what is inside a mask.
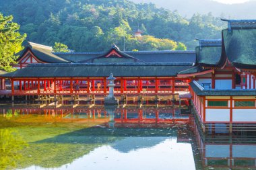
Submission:
[[[238,69],[256,69],[256,20],[222,20],[228,22],[222,30],[222,58]]]

